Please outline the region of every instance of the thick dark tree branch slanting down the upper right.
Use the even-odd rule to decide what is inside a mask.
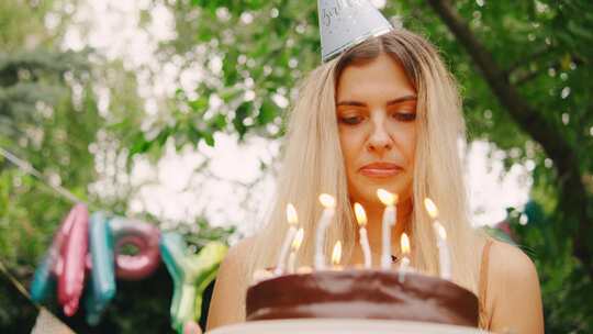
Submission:
[[[569,145],[560,131],[542,114],[521,97],[517,88],[510,84],[506,71],[494,62],[490,52],[478,41],[459,13],[451,7],[450,0],[427,0],[443,22],[449,27],[459,43],[469,53],[484,79],[506,109],[511,118],[538,142],[546,154],[555,162],[559,179],[559,209],[569,223],[577,226],[573,235],[573,254],[579,258],[593,279],[593,260],[588,237],[590,235],[588,214],[588,193],[581,179],[579,159],[575,149]],[[560,223],[560,222],[559,222]]]

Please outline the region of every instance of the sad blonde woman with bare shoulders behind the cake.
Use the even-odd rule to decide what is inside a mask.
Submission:
[[[435,48],[405,30],[394,30],[350,48],[315,69],[293,108],[276,203],[268,224],[244,240],[221,266],[208,329],[245,320],[245,293],[254,270],[272,267],[287,232],[286,205],[299,211],[305,238],[300,265],[312,265],[317,197],[335,196],[336,218],[326,252],[344,244],[344,265],[362,263],[353,204],[368,214],[373,264],[380,264],[383,204],[376,191],[399,197],[398,224],[411,237],[412,265],[438,275],[438,250],[423,201],[439,209],[452,258],[452,277],[480,300],[480,327],[542,333],[537,272],[516,247],[472,230],[458,155],[463,136],[461,103],[451,75]],[[392,254],[400,258],[399,242]],[[393,267],[399,266],[398,260]],[[512,292],[512,293],[511,293]]]

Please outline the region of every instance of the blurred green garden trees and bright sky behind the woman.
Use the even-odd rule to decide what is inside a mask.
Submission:
[[[535,261],[548,333],[593,332],[593,2],[371,2],[459,81],[475,226]],[[253,234],[318,38],[313,0],[0,1],[0,147],[45,180],[0,156],[0,332],[35,323],[11,279],[71,207],[52,186],[194,250]],[[171,291],[164,266],[118,281],[96,327],[47,307],[77,333],[169,333]]]

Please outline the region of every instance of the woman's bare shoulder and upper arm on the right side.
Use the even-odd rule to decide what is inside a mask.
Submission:
[[[539,279],[529,256],[514,245],[494,242],[488,279],[492,331],[544,333]]]

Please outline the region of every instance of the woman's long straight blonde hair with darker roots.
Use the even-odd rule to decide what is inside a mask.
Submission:
[[[300,87],[290,115],[283,168],[276,202],[268,223],[257,234],[247,281],[259,268],[276,266],[280,245],[288,230],[286,207],[293,203],[305,231],[299,265],[311,266],[316,223],[322,207],[317,197],[327,192],[336,198],[336,218],[327,231],[325,254],[340,240],[345,256],[356,243],[344,158],[339,145],[335,88],[349,64],[371,60],[385,53],[399,62],[417,92],[417,144],[413,181],[414,209],[411,216],[412,264],[427,275],[438,275],[438,250],[432,220],[424,208],[426,197],[439,209],[439,221],[447,230],[454,281],[477,292],[475,269],[480,240],[469,223],[462,164],[458,140],[465,138],[465,123],[457,85],[437,51],[423,37],[396,30],[368,40],[311,73]],[[414,245],[417,245],[414,247]]]

